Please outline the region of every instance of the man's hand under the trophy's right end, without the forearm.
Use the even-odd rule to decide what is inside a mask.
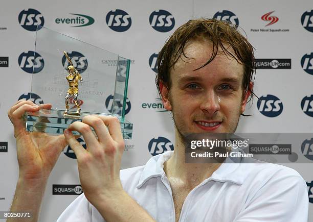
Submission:
[[[93,127],[98,138],[93,133]],[[75,139],[71,131],[80,132],[87,149]],[[88,201],[96,205],[123,190],[120,164],[124,140],[120,122],[115,117],[86,116],[82,122],[73,122],[64,135],[78,162],[79,178]]]

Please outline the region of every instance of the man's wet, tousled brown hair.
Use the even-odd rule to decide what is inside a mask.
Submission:
[[[251,96],[248,100],[249,102],[252,95],[255,95],[253,93],[253,89],[249,87],[250,81],[254,82],[254,48],[248,42],[247,38],[242,36],[237,31],[233,24],[227,21],[220,21],[215,18],[189,20],[168,38],[159,53],[158,73],[155,77],[155,84],[157,84],[160,96],[160,81],[165,85],[165,87],[170,89],[170,69],[182,55],[188,58],[184,53],[184,47],[187,42],[199,38],[212,42],[213,52],[211,58],[197,69],[209,64],[216,57],[219,48],[221,48],[227,57],[234,58],[238,63],[243,64],[244,73],[242,86],[243,92],[245,90],[249,90],[251,92]]]

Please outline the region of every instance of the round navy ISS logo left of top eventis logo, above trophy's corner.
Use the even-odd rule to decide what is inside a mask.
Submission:
[[[37,25],[43,26],[44,18],[39,11],[28,9],[19,13],[18,22],[24,29],[34,32],[37,30]],[[38,27],[38,30],[41,29],[41,27]]]

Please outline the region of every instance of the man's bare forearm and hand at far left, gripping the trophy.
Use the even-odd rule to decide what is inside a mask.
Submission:
[[[31,101],[18,101],[8,111],[14,126],[19,176],[11,212],[29,212],[30,220],[38,221],[41,200],[49,175],[66,145],[63,135],[49,136],[45,133],[30,133],[25,130],[25,112],[36,112],[40,108],[51,109],[50,104],[40,107]],[[25,221],[25,218],[9,218],[7,221]]]

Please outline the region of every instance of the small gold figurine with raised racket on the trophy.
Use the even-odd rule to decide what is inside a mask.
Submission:
[[[66,96],[65,96],[65,111],[64,111],[64,114],[79,115],[79,113],[80,113],[80,106],[79,106],[78,101],[77,101],[78,81],[82,81],[82,78],[81,78],[79,72],[74,68],[73,63],[72,63],[70,57],[68,56],[68,54],[65,51],[63,51],[63,53],[64,53],[66,59],[68,59],[69,64],[70,64],[68,66],[69,75],[66,76],[66,80],[68,80],[68,82],[69,82],[69,90],[68,90],[68,92],[66,93]],[[69,98],[70,98],[71,95],[73,96],[74,103],[77,106],[76,113],[69,113]]]

